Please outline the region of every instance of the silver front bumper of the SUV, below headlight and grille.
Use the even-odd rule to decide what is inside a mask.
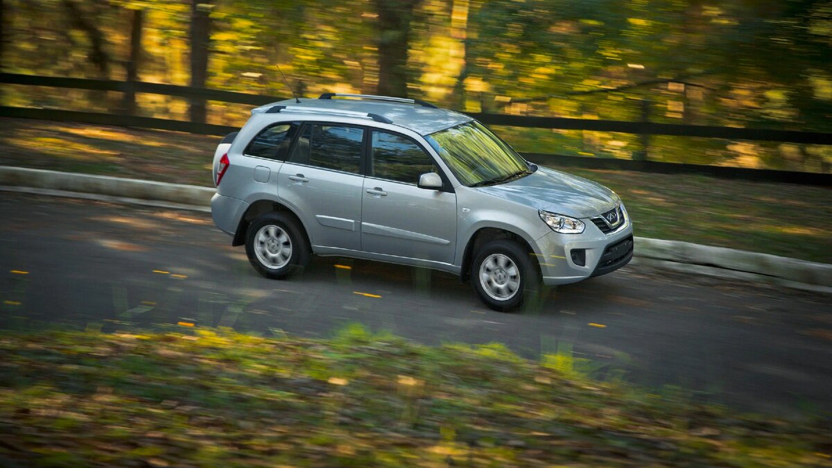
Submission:
[[[542,280],[549,286],[601,276],[625,266],[632,258],[632,222],[616,232],[604,234],[587,222],[581,234],[548,232],[532,246],[540,264]],[[572,253],[581,253],[573,258]],[[580,264],[583,260],[583,265]]]

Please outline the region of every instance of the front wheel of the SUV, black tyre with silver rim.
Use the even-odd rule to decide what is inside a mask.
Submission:
[[[540,274],[518,241],[497,239],[477,251],[471,264],[471,284],[480,299],[495,311],[517,309],[540,284]]]

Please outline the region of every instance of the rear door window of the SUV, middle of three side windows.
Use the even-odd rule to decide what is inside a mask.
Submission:
[[[363,142],[363,128],[306,125],[289,161],[358,174]]]

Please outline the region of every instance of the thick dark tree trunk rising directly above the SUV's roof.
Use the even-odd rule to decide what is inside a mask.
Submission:
[[[373,0],[379,14],[379,86],[382,96],[408,96],[410,21],[419,0]]]

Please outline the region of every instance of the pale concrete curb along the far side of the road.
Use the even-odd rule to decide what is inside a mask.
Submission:
[[[166,182],[0,167],[0,190],[205,211],[215,190]],[[32,191],[31,189],[38,189]],[[161,202],[161,203],[160,203]],[[636,264],[832,293],[832,265],[785,256],[636,237]]]

